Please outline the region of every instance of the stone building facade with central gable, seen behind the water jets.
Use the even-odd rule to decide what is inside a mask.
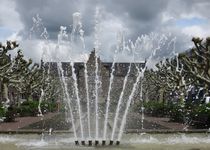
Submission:
[[[89,99],[90,102],[93,104],[91,106],[94,106],[95,102],[95,84],[96,84],[96,55],[95,51],[92,51],[91,54],[89,55],[89,59],[86,63],[87,66],[87,75],[88,75],[88,94],[89,94]],[[109,84],[110,84],[110,77],[111,77],[111,72],[112,72],[112,62],[102,62],[100,58],[97,58],[98,61],[98,77],[99,77],[99,83],[98,83],[98,101],[101,105],[105,104],[107,101],[107,96],[108,96],[108,90],[109,90]],[[116,105],[120,94],[123,89],[123,83],[125,76],[127,75],[127,72],[129,70],[129,66],[131,65],[131,71],[128,75],[128,80],[125,86],[124,90],[124,96],[123,100],[126,102],[133,84],[136,81],[137,77],[137,67],[138,68],[144,68],[145,67],[145,62],[140,62],[140,63],[121,63],[121,62],[116,62],[114,65],[114,78],[113,78],[113,83],[111,86],[111,92],[110,92],[110,99],[111,99],[111,105]],[[51,65],[51,70],[54,71],[54,74],[57,74],[58,69],[56,68],[56,63],[52,63]],[[75,87],[74,87],[74,80],[72,78],[72,70],[71,70],[71,65],[69,62],[63,62],[62,63],[62,69],[64,72],[64,76],[66,79],[66,82],[68,84],[68,90],[73,99],[76,99],[75,97]],[[85,64],[83,62],[76,62],[74,63],[74,68],[75,68],[75,74],[77,77],[77,87],[79,91],[79,98],[81,100],[81,103],[86,103],[87,101],[87,87],[85,85]],[[138,86],[139,88],[139,86]],[[133,98],[133,102],[139,101],[140,96],[139,96],[139,89],[136,90],[136,94]]]

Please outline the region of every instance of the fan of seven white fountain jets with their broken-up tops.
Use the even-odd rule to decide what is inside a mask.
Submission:
[[[126,45],[125,44],[125,39],[124,39],[124,35],[123,32],[119,32],[118,34],[118,45],[116,47],[115,50],[115,54],[113,57],[113,62],[111,64],[111,68],[110,68],[110,78],[109,78],[109,84],[108,84],[108,90],[107,90],[107,94],[106,94],[106,103],[105,103],[105,111],[104,114],[102,115],[102,117],[99,117],[99,99],[101,98],[101,88],[102,88],[102,81],[101,80],[101,62],[99,55],[100,55],[100,46],[101,46],[101,42],[100,42],[100,32],[101,32],[101,26],[100,26],[100,10],[99,8],[96,9],[96,13],[95,13],[95,42],[94,42],[94,63],[95,64],[91,64],[94,65],[94,99],[90,99],[90,92],[91,90],[89,89],[89,78],[90,76],[88,75],[88,72],[91,72],[93,70],[88,70],[88,62],[87,59],[84,59],[84,62],[82,63],[82,65],[84,66],[84,87],[85,87],[85,101],[86,101],[86,106],[81,105],[81,93],[79,90],[79,84],[78,84],[78,76],[77,76],[77,69],[75,68],[76,62],[73,61],[73,59],[71,57],[69,57],[70,63],[68,63],[68,67],[71,70],[71,76],[70,78],[72,79],[72,87],[69,87],[69,83],[67,80],[67,74],[64,73],[64,69],[62,62],[60,60],[60,58],[56,58],[56,60],[58,60],[57,62],[57,71],[58,71],[58,76],[60,78],[60,82],[61,82],[61,87],[63,90],[63,99],[66,105],[66,112],[69,113],[69,115],[67,114],[67,117],[70,116],[70,119],[68,120],[69,122],[71,122],[72,124],[72,129],[73,129],[73,133],[74,133],[74,138],[75,138],[75,144],[76,145],[85,145],[86,143],[88,143],[89,146],[91,146],[93,144],[93,140],[95,140],[94,145],[97,146],[100,144],[100,139],[102,138],[101,141],[101,145],[106,145],[107,141],[109,141],[109,145],[113,145],[114,142],[116,141],[116,145],[120,144],[121,138],[122,138],[122,134],[125,128],[125,124],[126,124],[126,118],[128,115],[128,111],[129,111],[129,107],[131,105],[131,102],[134,98],[134,94],[137,90],[137,88],[140,86],[140,100],[142,101],[142,107],[141,107],[141,111],[142,111],[142,120],[141,120],[141,124],[142,124],[142,129],[143,129],[143,120],[144,120],[144,107],[143,107],[143,96],[142,96],[142,89],[143,89],[143,84],[140,80],[143,78],[144,76],[144,72],[146,69],[146,64],[144,63],[143,65],[137,65],[137,63],[134,60],[134,56],[133,56],[133,63],[128,63],[128,67],[127,67],[127,71],[126,74],[124,75],[124,79],[123,79],[123,85],[122,85],[122,89],[120,92],[120,95],[118,97],[117,100],[117,105],[116,105],[116,111],[113,113],[113,124],[110,124],[110,121],[112,120],[111,118],[109,118],[110,113],[112,113],[110,111],[110,105],[113,101],[112,96],[111,96],[111,92],[114,88],[114,77],[115,77],[115,72],[116,72],[116,66],[118,65],[118,62],[116,61],[117,57],[118,57],[118,53],[125,51],[125,49],[129,50],[129,51],[136,51],[136,49],[138,49],[138,46],[140,45],[140,43],[144,42],[145,39],[148,39],[147,36],[142,36],[142,38],[138,38],[137,41],[135,42],[135,44],[133,44],[131,41],[129,41],[130,45]],[[32,28],[43,28],[43,32],[41,34],[41,37],[43,37],[46,41],[48,38],[48,34],[47,34],[47,30],[46,28],[43,26],[43,23],[41,23],[41,18],[37,15],[36,18],[33,19],[35,22],[35,25]],[[67,31],[66,31],[66,27],[61,26],[60,27],[60,32],[58,34],[58,43],[56,46],[57,51],[62,50],[63,48],[68,47],[68,49],[73,49],[75,47],[75,41],[78,42],[77,37],[79,36],[79,41],[82,45],[82,49],[85,51],[85,39],[84,39],[84,30],[82,28],[82,22],[81,22],[81,14],[79,12],[76,12],[73,14],[73,27],[72,27],[72,31],[70,33],[70,36],[68,35]],[[31,30],[32,32],[33,30]],[[31,37],[31,36],[30,36]],[[152,51],[151,56],[148,58],[147,62],[150,62],[150,60],[152,59],[152,57],[155,55],[156,51],[159,49],[159,45],[162,42],[162,39],[160,39],[159,44],[157,45],[157,48],[154,48],[154,45],[151,45],[150,47],[154,48],[154,50]],[[46,53],[46,52],[45,52]],[[52,61],[52,56],[50,56],[50,54],[45,54],[43,51],[43,56],[45,57],[50,57],[51,61]],[[135,67],[132,67],[132,66]],[[49,65],[50,66],[50,65]],[[50,67],[48,67],[49,69]],[[134,71],[135,70],[135,71]],[[49,71],[49,70],[48,70]],[[130,84],[129,83],[129,76],[132,74],[132,72],[134,72],[134,76],[136,77],[135,82],[132,83],[132,85],[130,85],[131,91],[130,93],[126,93],[126,88],[127,86]],[[69,93],[69,90],[72,89],[72,93]],[[126,93],[126,94],[125,94]],[[44,92],[42,91],[42,95],[44,95]],[[127,100],[125,100],[125,97],[127,96]],[[40,103],[42,101],[42,96],[40,97]],[[94,105],[93,103],[91,103],[91,101],[94,101]],[[86,111],[84,111],[85,109],[83,109],[83,107],[86,107]],[[91,109],[94,108],[94,117],[92,117],[91,113],[93,112]],[[122,109],[124,109],[124,111],[122,111]],[[39,104],[39,110],[40,110],[40,104]],[[74,112],[76,111],[76,113]],[[40,112],[41,114],[41,112]],[[123,114],[123,115],[122,115]],[[83,119],[83,116],[86,115],[87,116],[87,130],[85,130],[85,120]],[[120,116],[122,115],[122,116]],[[79,118],[77,121],[77,118]],[[100,120],[104,120],[103,122],[99,122]],[[122,121],[119,122],[119,119],[122,119]],[[94,125],[94,131],[91,130],[91,126],[92,123],[95,121],[95,125]],[[77,122],[78,122],[78,127],[79,127],[79,131],[80,134],[77,131]],[[110,131],[108,131],[108,125],[112,126],[112,129]],[[100,127],[102,126],[103,128],[103,132],[102,134],[100,134],[101,132],[99,131]],[[118,128],[119,127],[119,128]],[[119,130],[119,131],[118,131]],[[115,137],[115,135],[117,137]]]

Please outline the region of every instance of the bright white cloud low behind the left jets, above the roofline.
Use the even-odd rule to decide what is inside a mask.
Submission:
[[[74,48],[69,43],[58,46],[57,42],[51,40],[24,40],[20,42],[20,49],[23,50],[26,58],[32,58],[37,63],[40,62],[41,58],[47,62],[85,61],[86,58],[86,54],[83,54],[77,45],[74,45]]]

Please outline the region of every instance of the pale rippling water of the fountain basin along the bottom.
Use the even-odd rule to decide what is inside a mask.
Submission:
[[[0,135],[1,150],[209,150],[209,134],[127,134],[120,146],[75,146],[68,134]]]

